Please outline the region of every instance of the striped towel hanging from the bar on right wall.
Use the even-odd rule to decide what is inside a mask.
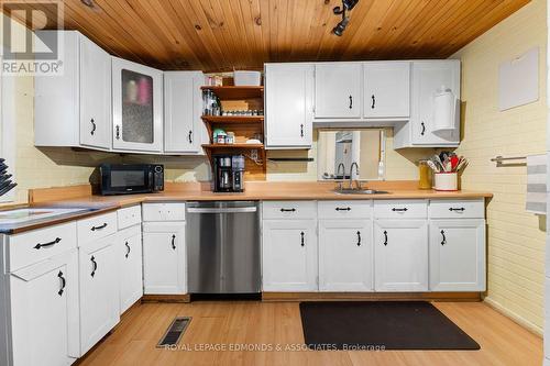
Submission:
[[[527,156],[527,212],[547,213],[547,156]]]

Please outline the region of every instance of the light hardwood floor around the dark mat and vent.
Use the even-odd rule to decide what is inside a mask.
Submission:
[[[298,302],[198,301],[144,303],[79,365],[541,365],[542,340],[482,302],[436,302],[481,351],[262,352],[200,351],[201,346],[301,346]],[[155,348],[174,317],[193,317],[179,350]],[[188,351],[191,348],[194,351]]]

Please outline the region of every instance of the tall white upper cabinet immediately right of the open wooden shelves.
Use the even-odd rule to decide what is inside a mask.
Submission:
[[[310,148],[314,65],[265,65],[265,147]]]

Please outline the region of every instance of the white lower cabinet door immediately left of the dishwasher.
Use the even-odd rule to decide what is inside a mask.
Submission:
[[[186,260],[185,222],[143,224],[144,293],[186,293]]]

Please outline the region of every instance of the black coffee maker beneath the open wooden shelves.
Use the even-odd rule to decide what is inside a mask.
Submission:
[[[244,156],[215,155],[213,156],[213,191],[242,192],[244,191]]]

